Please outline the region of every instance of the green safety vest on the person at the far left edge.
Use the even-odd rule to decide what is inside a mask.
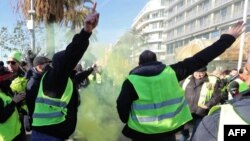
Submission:
[[[11,97],[0,92],[0,99],[4,102],[4,107],[12,102]],[[12,115],[4,122],[0,123],[0,140],[11,141],[21,132],[21,122],[19,120],[18,111],[15,111]]]

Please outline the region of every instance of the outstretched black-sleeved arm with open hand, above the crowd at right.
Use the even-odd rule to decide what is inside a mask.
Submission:
[[[207,66],[209,62],[221,55],[241,35],[244,27],[245,24],[242,21],[236,23],[211,46],[196,53],[193,57],[171,65],[176,72],[178,80],[185,79],[188,75]]]

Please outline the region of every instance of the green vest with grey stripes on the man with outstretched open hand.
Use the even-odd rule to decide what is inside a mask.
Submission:
[[[163,133],[192,119],[184,91],[171,67],[157,76],[131,74],[128,80],[139,97],[131,107],[130,128],[146,134]]]

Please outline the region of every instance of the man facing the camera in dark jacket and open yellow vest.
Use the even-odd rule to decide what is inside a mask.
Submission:
[[[186,141],[190,137],[190,129],[192,128],[193,135],[209,109],[219,104],[221,88],[218,77],[207,74],[207,67],[200,68],[186,78],[182,83],[182,88],[193,117],[193,120],[188,122],[181,132],[180,141]],[[190,140],[192,140],[192,135]]]

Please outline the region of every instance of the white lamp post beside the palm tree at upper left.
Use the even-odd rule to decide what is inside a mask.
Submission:
[[[35,29],[34,29],[34,16],[35,16],[35,10],[34,10],[34,0],[30,0],[30,10],[28,11],[30,15],[30,20],[27,21],[27,28],[29,29],[31,33],[31,49],[34,52],[35,51]]]

